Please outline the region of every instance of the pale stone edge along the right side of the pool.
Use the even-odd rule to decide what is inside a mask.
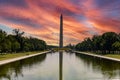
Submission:
[[[79,54],[88,55],[88,56],[93,56],[93,57],[98,57],[98,58],[103,58],[103,59],[107,59],[107,60],[120,62],[120,59],[116,59],[116,58],[111,58],[111,57],[106,57],[106,56],[101,56],[101,55],[96,55],[96,54],[90,54],[90,53],[87,53],[87,52],[80,52],[80,51],[73,51],[73,52],[79,53]]]

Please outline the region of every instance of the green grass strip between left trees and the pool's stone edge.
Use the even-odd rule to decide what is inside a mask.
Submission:
[[[17,57],[22,57],[22,56],[27,56],[31,54],[36,54],[42,51],[33,51],[33,52],[22,52],[22,53],[7,53],[4,55],[0,55],[0,61],[2,60],[7,60],[7,59],[12,59],[12,58],[17,58]]]

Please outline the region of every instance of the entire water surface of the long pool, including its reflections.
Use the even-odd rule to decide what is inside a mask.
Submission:
[[[120,80],[120,63],[77,53],[47,53],[0,66],[0,80]]]

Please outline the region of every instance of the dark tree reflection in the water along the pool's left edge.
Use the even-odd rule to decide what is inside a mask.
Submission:
[[[35,57],[28,58],[28,59],[2,65],[0,66],[0,80],[2,78],[12,80],[11,75],[13,75],[14,78],[18,78],[18,76],[24,77],[24,74],[22,73],[23,68],[29,67],[30,69],[34,65],[37,65],[43,62],[45,58],[46,58],[46,54],[41,54],[39,56],[35,56]]]

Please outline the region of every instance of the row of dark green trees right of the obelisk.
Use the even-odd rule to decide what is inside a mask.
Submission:
[[[120,53],[120,33],[106,32],[102,35],[94,35],[78,43],[75,49],[98,54],[118,54]]]

